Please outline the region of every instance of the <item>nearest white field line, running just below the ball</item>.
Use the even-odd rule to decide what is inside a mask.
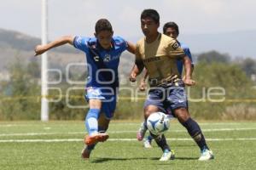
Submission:
[[[171,141],[192,141],[192,139],[167,139]],[[250,141],[256,138],[239,138],[239,139],[207,139],[207,141]],[[84,139],[7,139],[0,140],[0,143],[56,143],[56,142],[83,142]],[[137,141],[137,139],[108,139],[108,141]]]

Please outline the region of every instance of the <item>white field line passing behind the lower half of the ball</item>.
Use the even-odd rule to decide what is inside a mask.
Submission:
[[[202,129],[203,132],[222,132],[222,131],[249,131],[249,130],[256,130],[256,127],[252,128],[208,128]],[[187,130],[169,130],[169,132],[174,133],[183,133],[187,132]],[[134,130],[126,130],[126,131],[108,131],[108,133],[137,133]],[[67,132],[67,133],[0,133],[1,136],[39,136],[39,135],[67,135],[67,134],[85,134],[84,132]]]

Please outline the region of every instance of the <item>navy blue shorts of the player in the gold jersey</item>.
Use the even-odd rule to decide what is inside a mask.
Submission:
[[[179,81],[166,86],[151,88],[144,103],[144,108],[148,105],[155,105],[160,111],[170,115],[177,108],[187,108],[187,104],[185,86],[182,81]]]

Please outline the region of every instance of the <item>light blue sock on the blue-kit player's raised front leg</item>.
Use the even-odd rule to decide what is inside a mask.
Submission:
[[[98,132],[98,118],[100,116],[99,109],[90,109],[85,118],[85,127],[89,135]]]

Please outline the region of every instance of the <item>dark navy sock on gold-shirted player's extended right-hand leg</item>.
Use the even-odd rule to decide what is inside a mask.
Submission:
[[[206,143],[206,139],[201,132],[201,128],[193,119],[189,117],[186,122],[183,122],[183,127],[186,127],[190,136],[195,140],[196,144],[201,150],[209,149]]]

